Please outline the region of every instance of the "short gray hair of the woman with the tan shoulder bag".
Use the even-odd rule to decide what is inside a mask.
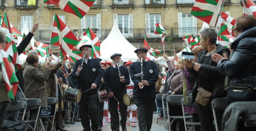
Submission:
[[[200,30],[199,34],[206,40],[206,38],[209,38],[209,42],[211,44],[216,44],[218,34],[214,28],[204,28]]]

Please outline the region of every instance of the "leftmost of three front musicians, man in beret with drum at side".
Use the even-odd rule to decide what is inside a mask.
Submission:
[[[100,85],[102,70],[98,60],[91,57],[92,45],[82,45],[79,50],[85,54],[85,59],[76,61],[73,77],[77,78],[78,88],[82,91],[79,107],[81,110],[81,124],[83,131],[97,131],[97,85]],[[83,62],[83,66],[81,64]],[[85,92],[86,91],[86,92]],[[90,115],[92,126],[90,127]]]

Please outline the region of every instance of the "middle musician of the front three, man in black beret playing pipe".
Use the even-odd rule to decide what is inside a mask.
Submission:
[[[130,76],[128,69],[120,64],[121,56],[122,54],[115,53],[110,57],[114,65],[107,68],[104,74],[105,89],[109,96],[112,131],[119,131],[118,102],[121,114],[120,125],[122,131],[126,131],[127,106],[123,102],[123,95],[126,93],[126,85],[130,84]]]

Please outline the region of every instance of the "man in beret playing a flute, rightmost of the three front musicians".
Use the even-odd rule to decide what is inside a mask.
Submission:
[[[155,83],[158,80],[156,63],[146,59],[147,51],[147,49],[142,47],[136,49],[134,52],[140,61],[130,66],[130,76],[134,83],[133,97],[135,98],[135,105],[138,109],[140,131],[150,131],[151,129],[154,112],[153,105],[156,98]],[[141,79],[142,77],[134,76],[141,72],[144,74],[143,79]]]

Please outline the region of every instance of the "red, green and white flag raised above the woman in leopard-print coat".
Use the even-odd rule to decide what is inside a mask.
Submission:
[[[61,59],[63,59],[71,49],[78,45],[78,40],[66,24],[55,14],[52,28],[51,45],[59,46]]]

